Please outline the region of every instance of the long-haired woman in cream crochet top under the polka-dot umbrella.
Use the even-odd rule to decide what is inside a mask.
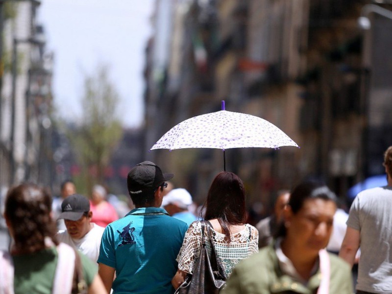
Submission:
[[[209,221],[212,231],[207,246],[215,247],[227,277],[240,260],[258,251],[258,231],[244,223],[246,207],[242,180],[232,172],[220,172],[211,184],[203,208],[204,219]],[[200,254],[202,225],[202,221],[194,221],[185,234],[177,256],[178,270],[172,279],[175,289],[184,282],[187,274],[193,274]],[[206,235],[207,230],[204,230]]]

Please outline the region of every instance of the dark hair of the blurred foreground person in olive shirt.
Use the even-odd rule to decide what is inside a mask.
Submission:
[[[293,192],[290,194],[289,205],[294,214],[301,210],[303,203],[307,199],[323,199],[330,200],[337,203],[337,197],[325,183],[316,180],[307,180],[296,186]],[[281,221],[278,225],[274,237],[286,237],[286,227],[284,221]]]

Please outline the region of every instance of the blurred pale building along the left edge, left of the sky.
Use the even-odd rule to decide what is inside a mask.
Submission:
[[[51,68],[36,0],[0,1],[0,185],[52,182]]]

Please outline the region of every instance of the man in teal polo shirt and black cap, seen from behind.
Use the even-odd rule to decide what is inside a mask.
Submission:
[[[128,173],[128,192],[136,208],[105,228],[99,251],[98,273],[108,292],[174,293],[175,259],[188,225],[160,208],[165,181],[172,177],[149,161]]]

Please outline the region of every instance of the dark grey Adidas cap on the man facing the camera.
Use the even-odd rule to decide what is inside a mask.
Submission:
[[[64,199],[61,204],[61,214],[57,220],[77,221],[89,211],[90,201],[83,195],[73,194]]]

